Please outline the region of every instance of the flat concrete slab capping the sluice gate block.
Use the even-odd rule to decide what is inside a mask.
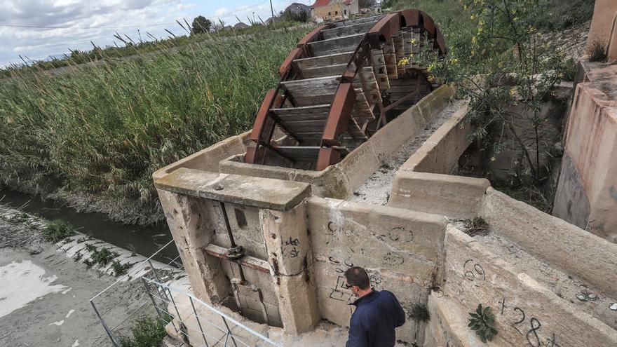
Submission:
[[[154,181],[157,189],[226,203],[286,211],[311,193],[301,182],[179,168]]]

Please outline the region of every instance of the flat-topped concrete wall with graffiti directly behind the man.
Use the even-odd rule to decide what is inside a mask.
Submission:
[[[410,312],[426,303],[440,283],[445,218],[421,212],[341,200],[308,200],[313,268],[320,316],[348,326],[355,300],[345,289],[344,271],[363,266],[377,290],[393,292]],[[422,345],[423,326],[413,320],[397,329],[397,337]]]

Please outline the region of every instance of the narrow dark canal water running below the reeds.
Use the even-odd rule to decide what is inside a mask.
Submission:
[[[52,200],[43,201],[39,197],[29,196],[2,186],[0,186],[0,199],[2,205],[19,208],[23,212],[49,220],[62,219],[72,224],[80,233],[134,251],[144,257],[151,256],[172,240],[166,222],[152,226],[121,224],[111,221],[107,215],[102,213],[79,213]],[[161,257],[156,257],[159,261],[173,259],[178,254],[173,245],[165,247],[161,253]]]

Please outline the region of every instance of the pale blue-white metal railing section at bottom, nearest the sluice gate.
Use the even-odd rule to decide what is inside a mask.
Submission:
[[[191,346],[282,346],[188,292],[148,278],[142,282],[158,318]]]

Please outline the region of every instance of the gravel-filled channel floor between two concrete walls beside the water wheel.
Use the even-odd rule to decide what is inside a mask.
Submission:
[[[416,137],[412,137],[403,144],[401,149],[390,156],[386,160],[386,163],[375,171],[373,175],[367,179],[367,182],[354,191],[353,195],[347,200],[357,203],[386,205],[396,171],[424,144],[424,142],[426,142],[426,140],[428,140],[428,137],[433,135],[433,132],[445,123],[462,105],[463,101],[461,100],[456,100],[451,104],[447,104],[445,109],[435,117],[432,123],[428,123]]]

